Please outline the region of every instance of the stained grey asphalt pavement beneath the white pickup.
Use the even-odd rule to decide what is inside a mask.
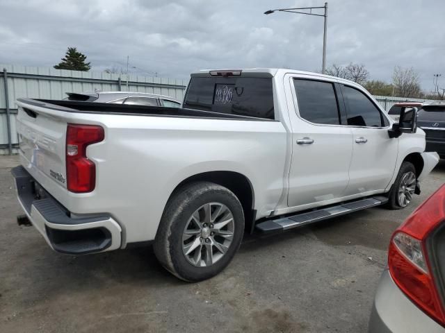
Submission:
[[[391,233],[445,182],[442,160],[405,210],[375,207],[245,237],[233,262],[190,284],[152,248],[55,253],[22,214],[0,157],[0,332],[366,332]]]

